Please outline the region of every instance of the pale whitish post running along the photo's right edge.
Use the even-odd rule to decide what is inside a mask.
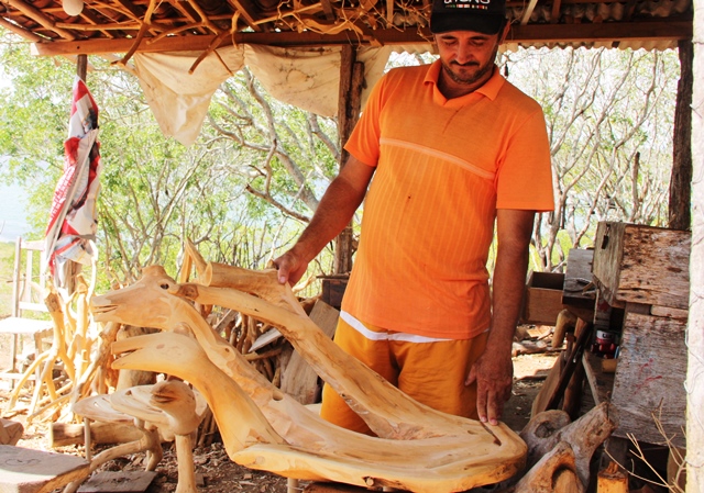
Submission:
[[[704,490],[704,0],[694,0],[692,255],[686,379],[686,491]]]

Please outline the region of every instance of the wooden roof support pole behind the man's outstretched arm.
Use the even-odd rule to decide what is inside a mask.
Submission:
[[[338,134],[340,135],[340,169],[348,160],[349,153],[342,146],[356,121],[362,109],[362,86],[364,83],[364,64],[356,60],[356,47],[342,47],[340,64],[340,97],[338,100]],[[352,225],[348,226],[336,238],[334,243],[334,274],[344,274],[352,270]]]

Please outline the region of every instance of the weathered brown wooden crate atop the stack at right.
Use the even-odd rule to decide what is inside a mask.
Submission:
[[[686,310],[691,242],[685,231],[600,223],[593,273],[604,299],[617,307],[631,302]]]

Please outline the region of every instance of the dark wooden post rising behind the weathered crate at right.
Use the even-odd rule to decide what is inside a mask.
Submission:
[[[670,217],[673,229],[689,229],[692,216],[692,58],[690,40],[678,43],[680,51],[680,82],[674,110],[672,139],[672,177],[670,178]]]

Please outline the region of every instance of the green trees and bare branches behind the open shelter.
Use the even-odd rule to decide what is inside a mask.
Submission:
[[[41,236],[62,172],[75,66],[32,57],[26,43],[0,33],[0,75],[13,80],[0,86],[0,155],[10,156],[0,179],[31,193]],[[433,58],[400,55],[389,67]],[[101,111],[100,289],[150,264],[175,276],[185,238],[207,259],[250,268],[293,244],[338,170],[333,120],[272,99],[242,70],[217,91],[200,138],[186,148],[162,135],[131,74],[89,61]],[[664,224],[675,53],[520,49],[503,54],[501,65],[541,103],[557,177],[557,210],[542,214],[531,270],[588,246],[598,221]],[[330,272],[331,261],[327,248],[310,273]]]

